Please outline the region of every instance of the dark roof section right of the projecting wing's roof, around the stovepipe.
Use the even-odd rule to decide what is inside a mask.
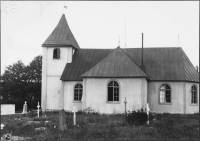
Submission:
[[[141,48],[124,51],[141,64]],[[199,82],[199,75],[182,48],[144,48],[143,55],[146,72],[153,80]]]

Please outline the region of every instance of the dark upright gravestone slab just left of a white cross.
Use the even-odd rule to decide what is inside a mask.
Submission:
[[[62,109],[59,111],[59,126],[58,129],[61,131],[67,130],[67,124],[66,124],[66,117],[65,117],[65,110]]]

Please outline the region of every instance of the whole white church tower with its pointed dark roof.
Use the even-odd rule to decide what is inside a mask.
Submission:
[[[42,47],[41,108],[42,111],[60,109],[59,100],[62,93],[60,77],[66,64],[72,62],[74,52],[80,49],[64,14]]]

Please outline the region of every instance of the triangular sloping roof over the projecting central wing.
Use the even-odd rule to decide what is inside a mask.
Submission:
[[[147,77],[147,75],[119,47],[81,76],[95,78]]]

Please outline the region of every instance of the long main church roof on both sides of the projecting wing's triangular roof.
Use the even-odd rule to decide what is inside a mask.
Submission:
[[[122,50],[136,65],[141,66],[141,48]],[[77,50],[73,56],[72,63],[66,64],[61,80],[82,81],[81,75],[107,57],[111,51],[113,49]],[[143,55],[146,74],[152,80],[199,82],[199,74],[182,48],[144,48]],[[121,63],[123,62],[121,61]]]

